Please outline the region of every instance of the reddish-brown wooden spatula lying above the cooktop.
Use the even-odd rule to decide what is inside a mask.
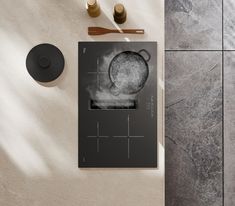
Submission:
[[[88,27],[89,35],[103,35],[109,33],[120,34],[144,34],[144,29],[107,29],[103,27]]]

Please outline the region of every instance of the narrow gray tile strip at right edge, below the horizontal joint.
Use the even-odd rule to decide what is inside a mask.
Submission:
[[[224,206],[235,205],[235,52],[224,55]]]

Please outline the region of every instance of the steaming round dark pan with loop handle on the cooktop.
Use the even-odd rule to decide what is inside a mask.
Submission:
[[[144,56],[141,53],[145,54]],[[148,61],[151,56],[145,49],[139,52],[124,51],[117,54],[109,65],[109,77],[114,95],[135,94],[145,85],[149,75]]]

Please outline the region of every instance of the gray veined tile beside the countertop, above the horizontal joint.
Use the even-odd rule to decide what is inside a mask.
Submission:
[[[166,0],[165,39],[169,50],[221,50],[222,0]]]

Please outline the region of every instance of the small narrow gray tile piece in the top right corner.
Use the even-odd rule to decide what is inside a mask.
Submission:
[[[224,0],[224,49],[235,49],[235,1]]]

